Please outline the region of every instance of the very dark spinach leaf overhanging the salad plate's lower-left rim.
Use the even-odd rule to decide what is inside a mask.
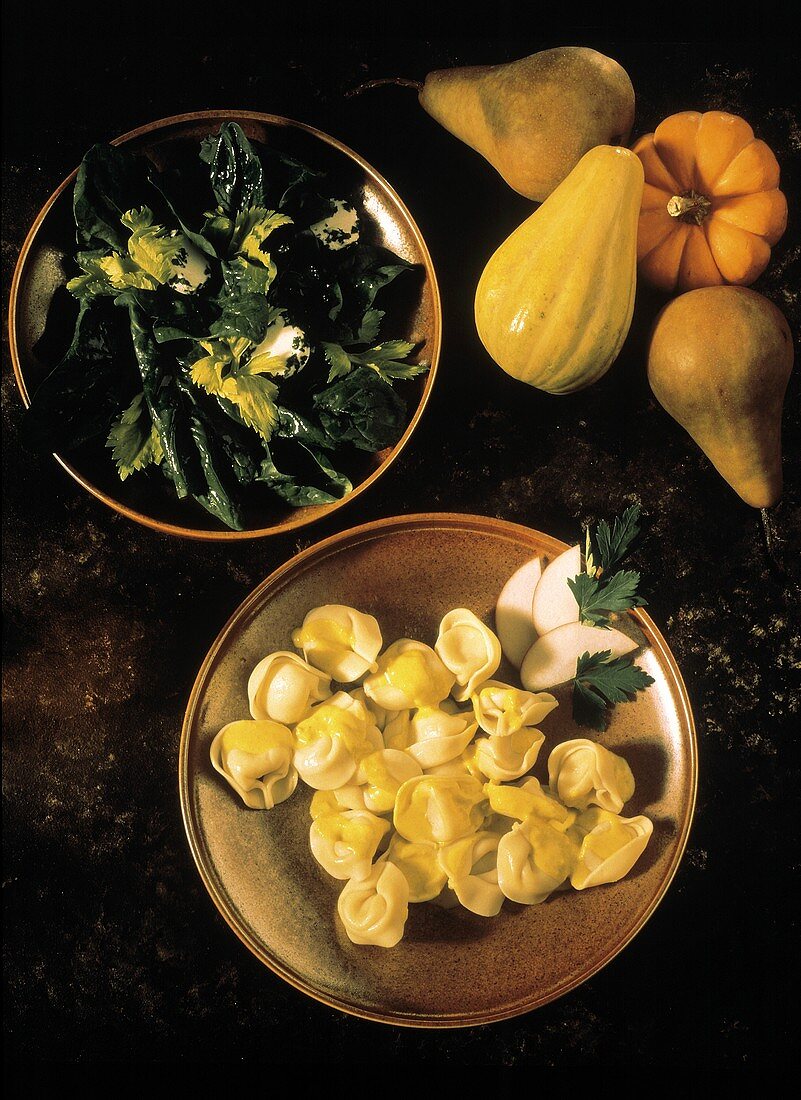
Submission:
[[[69,349],[33,395],[23,439],[32,450],[72,451],[106,436],[138,388],[124,317],[110,298],[81,302]]]

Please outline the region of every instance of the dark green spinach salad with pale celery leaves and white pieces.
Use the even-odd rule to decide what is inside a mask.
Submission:
[[[428,364],[380,336],[385,288],[416,265],[366,243],[322,173],[232,122],[198,152],[164,172],[124,146],[84,157],[77,319],[28,435],[105,440],[121,479],[163,475],[242,530],[251,486],[297,507],[347,495],[340,465],[397,442],[398,383]]]

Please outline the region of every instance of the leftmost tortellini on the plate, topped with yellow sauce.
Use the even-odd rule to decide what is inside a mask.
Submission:
[[[297,787],[290,732],[277,722],[229,722],[211,743],[215,771],[251,810],[272,810]]]

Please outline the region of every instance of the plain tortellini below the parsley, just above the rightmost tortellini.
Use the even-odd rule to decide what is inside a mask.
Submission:
[[[619,814],[634,794],[634,776],[623,757],[583,737],[553,749],[548,784],[568,806],[600,806],[613,814]]]

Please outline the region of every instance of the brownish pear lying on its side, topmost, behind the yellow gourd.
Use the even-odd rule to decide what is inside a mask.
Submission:
[[[421,106],[526,198],[541,202],[594,145],[625,145],[634,88],[617,62],[585,46],[503,65],[429,73]]]

